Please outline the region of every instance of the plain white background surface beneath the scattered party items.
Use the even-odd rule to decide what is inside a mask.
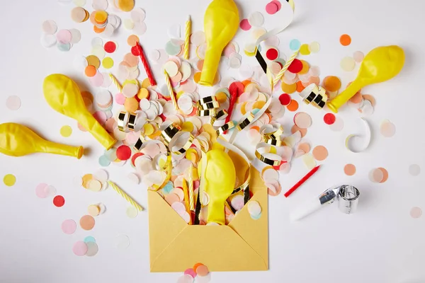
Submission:
[[[270,16],[264,11],[266,0],[238,3],[241,18],[261,11],[268,29],[283,21],[281,15],[287,8],[283,4],[278,14]],[[99,168],[98,156],[103,149],[89,134],[80,132],[76,122],[53,111],[42,96],[42,80],[52,73],[67,74],[87,86],[84,75],[74,70],[72,61],[77,54],[89,55],[90,41],[94,37],[91,23],[73,23],[69,13],[74,5],[62,6],[55,0],[4,0],[2,4],[0,122],[21,122],[47,139],[88,147],[91,154],[81,161],[41,154],[22,158],[0,156],[1,178],[7,173],[17,178],[13,187],[0,184],[0,282],[176,282],[181,274],[149,273],[147,212],[129,219],[125,215],[127,204],[112,190],[94,193],[73,184],[75,176],[94,173]],[[295,4],[293,25],[279,35],[280,52],[290,54],[288,43],[293,38],[307,43],[318,41],[320,52],[304,59],[320,67],[321,79],[336,75],[345,85],[354,79],[356,71],[341,71],[339,61],[356,50],[367,53],[380,45],[402,46],[406,64],[396,79],[363,90],[375,96],[377,106],[368,119],[373,127],[373,143],[362,154],[351,154],[344,148],[348,134],[361,133],[362,125],[355,110],[341,109],[339,115],[344,118],[345,127],[336,133],[322,122],[323,112],[301,105],[300,110],[314,118],[307,138],[313,145],[327,146],[329,157],[314,178],[292,197],[270,197],[270,270],[213,272],[212,282],[424,282],[425,218],[412,219],[409,211],[415,206],[425,208],[422,187],[425,173],[412,177],[408,168],[412,163],[425,168],[422,148],[425,98],[421,93],[425,76],[422,36],[425,4],[423,1],[403,3],[395,0],[299,0]],[[137,1],[136,6],[147,13],[147,33],[141,37],[145,50],[164,48],[169,40],[167,28],[175,23],[183,25],[189,13],[193,30],[200,30],[207,5],[206,0]],[[92,11],[90,0],[85,8]],[[118,16],[129,17],[125,13],[118,13]],[[56,48],[45,50],[40,45],[41,23],[48,19],[56,21],[60,29],[81,30],[81,42],[68,53]],[[343,33],[353,39],[348,47],[339,44],[339,36]],[[248,34],[239,30],[236,40],[241,47]],[[120,45],[118,52],[113,54],[116,65],[128,52],[125,40],[128,35],[128,30],[122,27],[120,36],[114,38]],[[251,62],[254,66],[244,54],[243,57],[243,62]],[[222,72],[222,76],[226,76],[225,73]],[[234,76],[237,77],[236,73]],[[94,92],[93,88],[89,89]],[[203,88],[200,93],[206,95],[208,89]],[[21,98],[21,109],[6,108],[4,102],[11,95]],[[285,113],[287,131],[292,125],[292,116]],[[395,137],[380,136],[379,123],[384,119],[395,124]],[[60,136],[63,125],[72,125],[71,137]],[[346,163],[356,165],[356,175],[344,175]],[[370,183],[368,172],[376,167],[387,168],[390,173],[387,183]],[[147,206],[146,188],[132,184],[126,177],[132,172],[128,164],[123,168],[110,166],[106,170],[111,180]],[[280,178],[283,191],[305,173],[302,161],[296,160],[290,174]],[[54,185],[57,193],[65,197],[64,207],[53,206],[50,198],[36,197],[38,183]],[[289,222],[290,210],[305,197],[314,197],[327,187],[341,183],[350,183],[361,190],[356,214],[341,214],[334,204],[298,223]],[[96,202],[106,204],[108,212],[96,218],[94,230],[78,228],[73,235],[61,231],[64,219],[74,219],[78,223],[89,204]],[[130,237],[131,245],[127,250],[115,248],[114,238],[119,234]],[[94,236],[98,243],[99,253],[94,258],[77,257],[72,253],[74,242],[86,236]],[[229,250],[229,253],[237,252]]]

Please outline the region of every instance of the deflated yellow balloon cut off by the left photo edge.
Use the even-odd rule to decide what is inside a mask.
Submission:
[[[31,129],[16,123],[0,125],[0,152],[8,156],[24,156],[35,152],[81,158],[83,146],[68,146],[42,139]]]

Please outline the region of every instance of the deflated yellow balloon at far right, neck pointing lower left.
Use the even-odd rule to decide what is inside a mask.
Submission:
[[[344,103],[361,88],[394,78],[404,66],[404,51],[397,45],[381,46],[371,50],[363,59],[356,80],[345,91],[327,103],[328,108],[338,112]]]

